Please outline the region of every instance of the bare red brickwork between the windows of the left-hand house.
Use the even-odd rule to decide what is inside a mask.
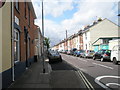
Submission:
[[[14,3],[15,6],[15,3]],[[34,56],[34,32],[35,32],[35,26],[34,26],[34,18],[33,13],[30,11],[30,27],[28,26],[28,2],[26,2],[26,16],[25,18],[25,4],[24,2],[19,2],[19,12],[14,7],[14,15],[17,16],[20,20],[20,60],[25,61],[26,60],[26,42],[24,40],[24,26],[28,29],[28,33],[30,35],[30,57]]]

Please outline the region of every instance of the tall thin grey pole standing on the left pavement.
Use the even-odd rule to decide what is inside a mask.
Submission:
[[[44,53],[44,12],[43,12],[43,0],[42,0],[42,35],[43,35],[43,73],[45,73],[45,53]]]

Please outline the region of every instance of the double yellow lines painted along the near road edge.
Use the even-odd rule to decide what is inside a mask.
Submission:
[[[91,83],[88,81],[88,79],[85,77],[85,75],[80,70],[78,70],[77,72],[78,72],[78,75],[82,78],[82,80],[85,83],[86,87],[89,90],[95,90],[94,87],[91,85]]]

